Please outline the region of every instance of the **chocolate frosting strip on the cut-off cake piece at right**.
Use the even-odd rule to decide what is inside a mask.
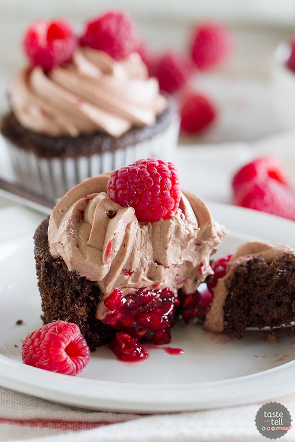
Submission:
[[[258,241],[248,241],[238,247],[236,253],[228,262],[225,276],[218,279],[213,289],[214,298],[206,315],[204,322],[205,329],[216,332],[223,331],[223,306],[228,295],[228,287],[237,266],[254,257],[263,258],[266,262],[271,262],[273,259],[280,258],[284,253],[288,252],[294,253],[294,250],[289,246],[266,244]]]

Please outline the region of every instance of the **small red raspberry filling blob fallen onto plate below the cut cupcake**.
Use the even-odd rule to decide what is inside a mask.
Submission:
[[[134,362],[148,358],[148,354],[138,340],[123,331],[117,333],[116,338],[113,339],[109,347],[120,360]]]

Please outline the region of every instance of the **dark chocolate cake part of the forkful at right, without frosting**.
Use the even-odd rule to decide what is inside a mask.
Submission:
[[[242,337],[247,327],[290,326],[295,320],[295,254],[239,264],[227,288],[225,331]]]

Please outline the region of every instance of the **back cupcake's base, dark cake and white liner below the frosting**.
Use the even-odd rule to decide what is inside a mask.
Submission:
[[[13,113],[1,122],[18,182],[25,188],[59,198],[76,184],[140,158],[171,160],[177,144],[178,119],[173,106],[153,126],[133,128],[119,138],[92,135],[50,137],[24,128]]]

